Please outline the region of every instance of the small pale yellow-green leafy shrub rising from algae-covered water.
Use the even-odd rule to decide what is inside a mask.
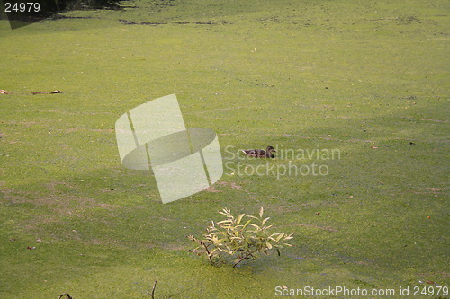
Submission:
[[[188,236],[198,244],[190,252],[206,255],[212,265],[231,256],[235,258],[233,267],[236,267],[244,259],[257,259],[261,252],[268,254],[269,251],[276,250],[280,255],[280,249],[292,246],[287,241],[293,239],[293,233],[269,233],[272,225],[267,225],[270,217],[263,217],[263,207],[259,210],[259,217],[245,214],[235,217],[229,208],[224,208],[219,213],[227,218],[216,224],[211,221],[206,233],[202,234],[202,239]]]

